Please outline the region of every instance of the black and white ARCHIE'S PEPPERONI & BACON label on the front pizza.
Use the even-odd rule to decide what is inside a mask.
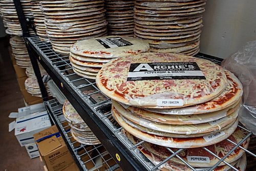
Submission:
[[[131,63],[127,81],[205,79],[197,62]]]

